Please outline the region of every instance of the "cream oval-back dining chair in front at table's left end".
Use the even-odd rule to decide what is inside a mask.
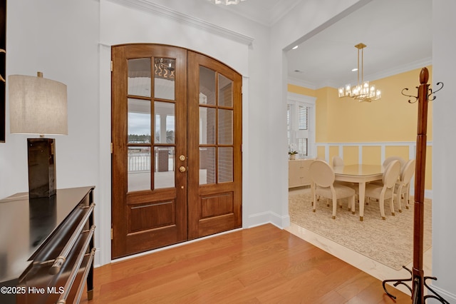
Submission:
[[[333,219],[336,218],[337,200],[349,198],[351,212],[355,214],[355,191],[353,188],[334,183],[336,175],[333,168],[326,161],[314,161],[310,166],[312,192],[313,192],[313,211],[316,212],[316,196],[332,199]]]

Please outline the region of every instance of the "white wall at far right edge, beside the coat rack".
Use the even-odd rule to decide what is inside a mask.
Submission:
[[[432,81],[445,86],[432,102],[432,281],[435,290],[456,303],[456,1],[432,1]],[[417,29],[419,31],[419,29]]]

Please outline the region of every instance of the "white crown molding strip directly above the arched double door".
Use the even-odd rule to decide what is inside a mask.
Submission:
[[[222,36],[224,38],[230,39],[232,41],[239,42],[241,44],[245,44],[247,46],[252,45],[254,39],[252,37],[239,34],[235,31],[231,31],[229,29],[224,29],[222,26],[217,26],[216,24],[211,24],[207,21],[204,21],[199,18],[195,18],[194,16],[190,16],[187,14],[182,14],[179,11],[174,11],[169,9],[165,6],[160,4],[155,4],[152,1],[148,0],[108,0],[115,4],[120,4],[122,6],[127,6],[133,9],[138,9],[140,11],[146,11],[147,13],[155,14],[157,16],[162,16],[167,19],[171,19],[182,24],[186,24],[188,26],[193,26],[196,29],[202,29],[204,31],[208,31],[212,34],[217,34],[218,36]]]

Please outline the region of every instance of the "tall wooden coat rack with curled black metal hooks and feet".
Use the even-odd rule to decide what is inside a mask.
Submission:
[[[435,277],[429,277],[424,275],[423,270],[423,226],[424,226],[424,212],[425,212],[425,165],[426,165],[426,141],[427,141],[427,103],[433,101],[435,96],[430,96],[443,88],[443,83],[438,82],[437,86],[440,86],[437,91],[432,92],[429,88],[427,81],[429,80],[429,71],[426,68],[420,71],[420,86],[418,86],[418,96],[410,96],[404,93],[408,91],[408,88],[404,88],[402,94],[411,98],[415,98],[415,101],[409,99],[409,103],[415,103],[418,101],[418,134],[416,138],[416,168],[415,168],[415,204],[413,206],[413,269],[410,270],[403,266],[410,273],[410,278],[407,279],[394,279],[394,280],[383,280],[383,290],[395,299],[396,297],[386,290],[385,284],[388,282],[395,282],[393,285],[405,285],[412,293],[412,302],[425,303],[427,298],[435,298],[441,303],[450,304],[447,300],[438,295],[435,290],[426,284],[427,279],[437,280]],[[412,282],[410,287],[405,282]],[[432,294],[425,295],[424,289],[427,288]]]

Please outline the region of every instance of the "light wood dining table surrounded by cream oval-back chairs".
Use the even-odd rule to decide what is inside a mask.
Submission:
[[[384,167],[382,165],[356,164],[346,166],[334,166],[336,181],[358,183],[359,195],[359,220],[363,221],[366,183],[379,181],[383,178]]]

